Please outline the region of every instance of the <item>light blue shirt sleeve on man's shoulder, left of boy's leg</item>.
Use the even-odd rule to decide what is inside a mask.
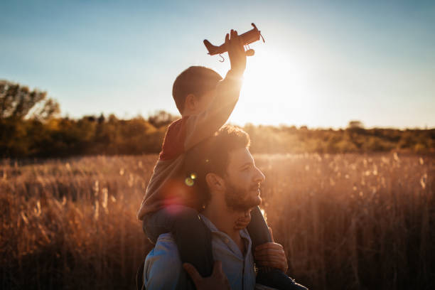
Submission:
[[[175,241],[170,233],[159,236],[154,249],[145,259],[144,285],[147,290],[180,289],[186,274]]]

